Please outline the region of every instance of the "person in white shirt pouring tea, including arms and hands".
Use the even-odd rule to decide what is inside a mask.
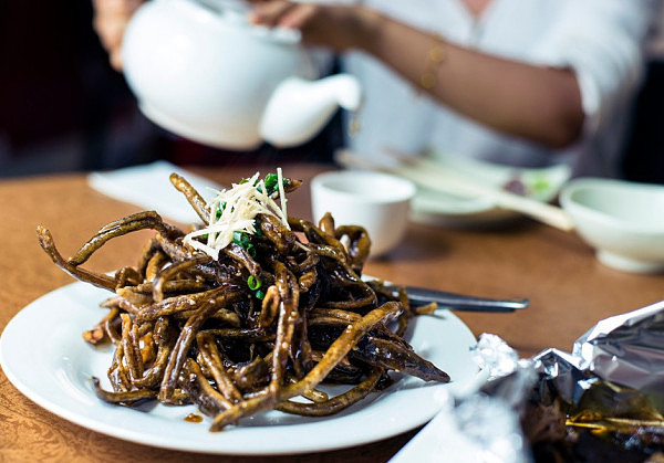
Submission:
[[[95,0],[120,67],[136,0]],[[651,0],[252,0],[249,20],[298,29],[341,56],[365,97],[363,156],[385,149],[618,176],[643,66]]]

